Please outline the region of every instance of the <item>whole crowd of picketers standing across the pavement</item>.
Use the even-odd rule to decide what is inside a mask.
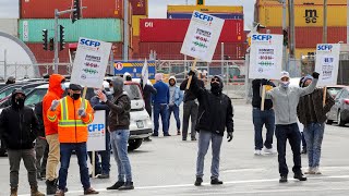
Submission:
[[[213,158],[210,184],[219,185],[220,147],[224,133],[227,139],[233,138],[233,107],[231,99],[222,93],[224,79],[216,75],[209,81],[209,88],[198,78],[198,73],[190,71],[188,78],[180,85],[174,76],[164,82],[163,74],[156,74],[154,86],[141,79],[145,109],[154,121],[154,137],[159,136],[159,117],[161,117],[163,135],[170,135],[170,118],[173,113],[176,133],[186,140],[189,120],[191,119],[191,140],[197,139],[195,186],[203,183],[204,159],[212,143]],[[320,158],[324,135],[326,113],[334,105],[334,99],[316,88],[318,73],[301,78],[298,87],[289,86],[290,76],[282,72],[279,85],[269,79],[252,82],[253,100],[252,118],[254,124],[254,155],[274,154],[273,138],[277,138],[280,183],[288,181],[286,164],[287,139],[293,154],[293,177],[306,181],[301,170],[302,135],[298,122],[304,125],[303,135],[306,143],[309,170],[305,174],[321,174]],[[70,84],[65,89],[65,78],[52,74],[49,88],[43,101],[35,109],[24,106],[26,95],[16,89],[12,93],[12,106],[0,115],[0,134],[4,140],[10,161],[11,196],[17,195],[20,162],[23,159],[28,173],[32,196],[43,196],[38,191],[37,180],[46,179],[46,194],[63,196],[68,192],[67,179],[70,159],[75,151],[84,195],[98,194],[91,186],[87,157],[95,162],[98,179],[110,177],[110,151],[117,163],[118,176],[115,184],[107,189],[133,189],[132,169],[128,156],[130,136],[131,100],[123,90],[124,81],[132,81],[131,75],[116,77],[109,82],[110,91],[95,88],[91,100],[82,98],[82,86]],[[265,91],[265,101],[262,95]],[[64,91],[68,95],[63,97]],[[325,105],[322,103],[326,95]],[[180,106],[183,102],[182,124]],[[263,103],[264,102],[264,103]],[[153,107],[152,107],[153,106]],[[294,107],[298,106],[298,107]],[[153,110],[152,110],[153,108]],[[94,110],[106,111],[106,150],[97,151],[95,160],[87,152],[87,125],[94,120]],[[263,143],[263,126],[266,127],[266,139]],[[196,136],[198,134],[198,137]],[[151,138],[146,138],[152,140]],[[35,145],[34,145],[35,142]],[[58,167],[59,170],[58,170]]]

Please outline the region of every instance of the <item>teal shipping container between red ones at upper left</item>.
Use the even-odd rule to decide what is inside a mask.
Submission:
[[[122,24],[119,19],[84,19],[74,24],[70,20],[59,20],[64,26],[67,42],[75,42],[80,37],[104,41],[122,41]],[[20,39],[25,42],[41,42],[43,29],[48,29],[48,37],[53,37],[55,20],[20,20]]]

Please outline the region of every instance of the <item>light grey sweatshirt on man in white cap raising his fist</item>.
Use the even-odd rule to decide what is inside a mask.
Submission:
[[[273,99],[275,110],[275,124],[293,124],[298,122],[297,106],[299,98],[314,91],[317,79],[306,87],[288,87],[278,86],[266,93],[266,98]],[[321,101],[321,100],[320,100]]]

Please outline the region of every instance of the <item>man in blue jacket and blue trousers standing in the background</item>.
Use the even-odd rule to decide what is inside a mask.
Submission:
[[[159,136],[159,115],[161,115],[164,136],[171,136],[168,133],[168,103],[170,98],[169,87],[163,82],[163,74],[155,74],[155,85],[157,94],[153,96],[154,102],[154,133],[153,136]]]

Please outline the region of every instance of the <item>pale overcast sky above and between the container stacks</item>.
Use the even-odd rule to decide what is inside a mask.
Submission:
[[[148,0],[149,17],[166,19],[167,4],[194,4],[195,0]],[[253,22],[255,0],[206,0],[207,5],[243,5],[245,27]],[[19,17],[19,0],[0,0],[0,19]]]

